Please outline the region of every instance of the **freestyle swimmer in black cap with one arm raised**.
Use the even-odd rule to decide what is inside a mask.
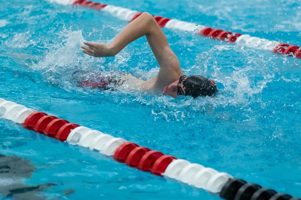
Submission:
[[[214,81],[200,75],[184,75],[180,62],[169,47],[166,36],[154,17],[144,12],[130,22],[110,44],[98,42],[84,42],[83,53],[94,57],[115,56],[125,46],[134,40],[146,36],[152,52],[154,53],[160,70],[157,76],[144,81],[130,73],[123,74],[118,80],[119,85],[127,82],[131,88],[142,90],[162,89],[163,95],[176,98],[178,95],[213,97],[218,91]],[[103,85],[103,84],[101,84]]]

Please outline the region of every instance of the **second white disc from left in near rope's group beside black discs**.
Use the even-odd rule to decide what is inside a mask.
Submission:
[[[177,180],[183,183],[191,183],[194,175],[203,168],[205,168],[203,165],[197,163],[189,164],[181,170]]]

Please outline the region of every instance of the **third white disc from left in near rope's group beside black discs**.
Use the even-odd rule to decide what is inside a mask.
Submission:
[[[212,168],[203,168],[202,170],[198,171],[193,177],[191,185],[197,188],[203,188],[207,186],[210,178],[212,178],[215,174],[219,173],[215,169]]]

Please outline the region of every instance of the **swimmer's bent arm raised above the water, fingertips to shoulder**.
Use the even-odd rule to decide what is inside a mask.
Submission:
[[[108,57],[119,53],[130,42],[146,36],[152,52],[159,65],[158,78],[169,76],[168,79],[178,79],[182,70],[177,56],[173,53],[167,42],[166,36],[152,15],[142,13],[130,22],[113,40],[111,44],[84,42],[86,46],[82,52],[94,57]],[[176,71],[176,73],[173,73]]]

